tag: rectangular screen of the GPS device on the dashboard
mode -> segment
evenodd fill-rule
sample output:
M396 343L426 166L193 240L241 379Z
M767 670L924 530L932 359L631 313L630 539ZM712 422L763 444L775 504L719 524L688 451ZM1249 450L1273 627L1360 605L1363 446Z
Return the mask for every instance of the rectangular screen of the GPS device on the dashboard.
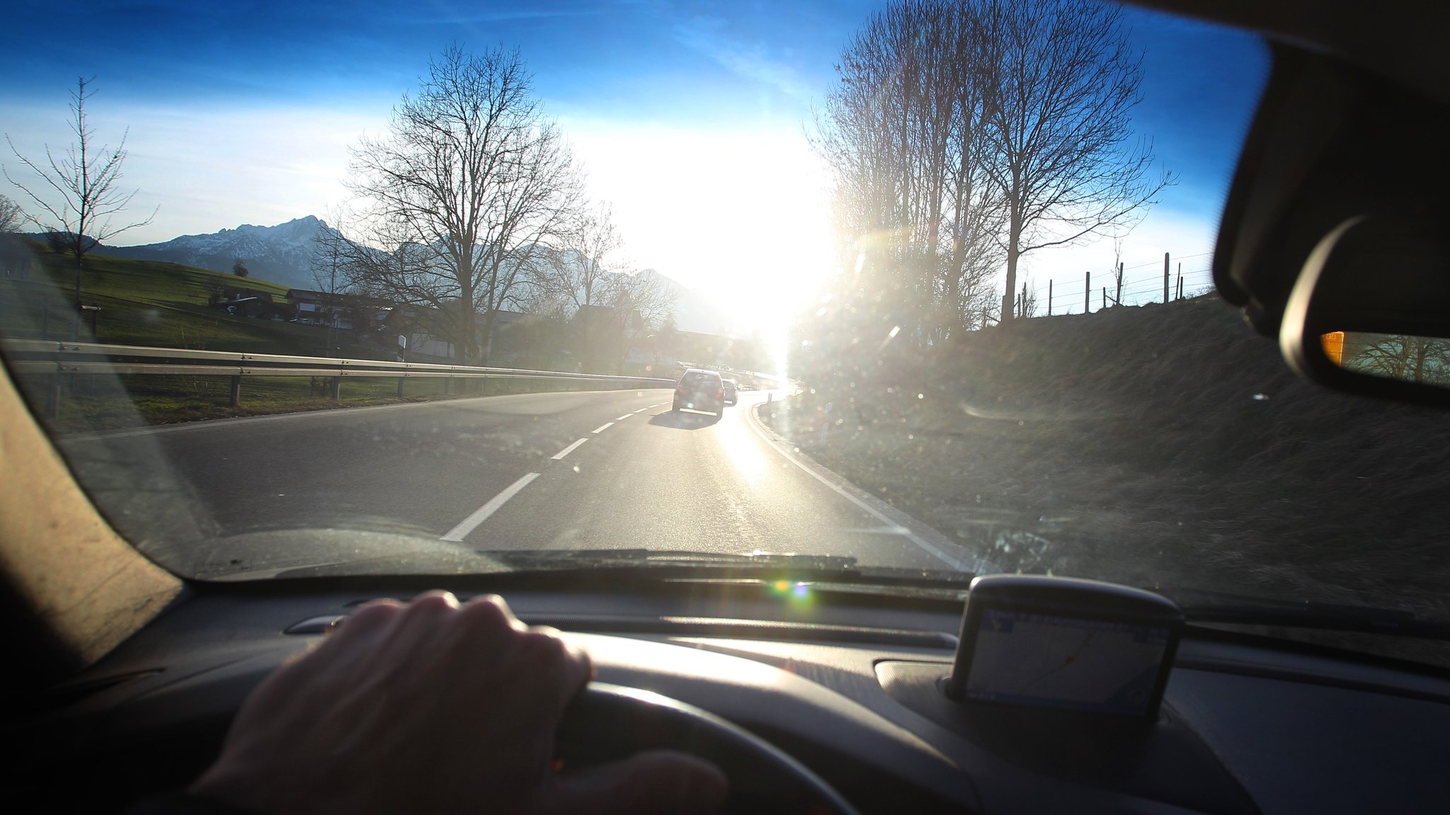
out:
M1147 713L1169 629L985 609L967 699L1102 713Z

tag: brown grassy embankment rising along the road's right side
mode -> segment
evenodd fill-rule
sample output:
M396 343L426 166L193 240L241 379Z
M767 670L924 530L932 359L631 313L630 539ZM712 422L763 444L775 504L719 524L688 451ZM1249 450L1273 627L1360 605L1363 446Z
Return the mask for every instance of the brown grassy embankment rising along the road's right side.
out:
M777 431L1008 570L1450 619L1447 415L1299 380L1217 299L1021 320L792 402Z

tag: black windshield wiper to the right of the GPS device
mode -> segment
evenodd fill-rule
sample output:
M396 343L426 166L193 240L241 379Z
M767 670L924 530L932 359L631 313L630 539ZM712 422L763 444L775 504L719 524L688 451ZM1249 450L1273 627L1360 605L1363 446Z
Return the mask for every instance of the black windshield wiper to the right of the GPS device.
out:
M1277 600L1205 589L1150 590L1156 590L1176 602L1183 609L1183 615L1189 622L1279 625L1286 628L1389 634L1422 640L1450 640L1450 622L1424 619L1405 609L1325 603L1318 600Z

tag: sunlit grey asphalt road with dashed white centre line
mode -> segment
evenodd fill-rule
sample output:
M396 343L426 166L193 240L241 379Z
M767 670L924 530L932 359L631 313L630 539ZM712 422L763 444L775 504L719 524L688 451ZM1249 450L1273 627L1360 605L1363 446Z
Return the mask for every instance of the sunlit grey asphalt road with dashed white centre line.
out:
M751 415L766 393L742 392L719 419L671 412L670 396L457 399L97 434L62 447L113 522L130 539L155 541L168 564L183 550L202 557L196 538L219 551L226 539L252 538L277 548L290 531L320 528L345 531L326 538L334 548L374 531L431 541L434 553L758 550L863 566L974 566L940 534L773 441ZM139 489L138 479L154 483ZM183 522L204 534L165 526ZM219 551L204 553L207 568ZM231 563L262 566L245 551L255 564ZM318 553L297 550L270 564L313 561Z

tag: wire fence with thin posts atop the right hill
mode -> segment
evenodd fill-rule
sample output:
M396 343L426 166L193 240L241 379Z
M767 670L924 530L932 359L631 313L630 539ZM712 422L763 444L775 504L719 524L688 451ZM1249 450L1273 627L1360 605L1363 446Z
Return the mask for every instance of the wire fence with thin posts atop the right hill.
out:
M1143 306L1193 297L1214 287L1211 257L1211 252L1199 252L1174 258L1164 252L1163 260L1135 265L1119 262L1118 270L1085 270L1080 277L1028 281L1016 293L1018 313L1082 315L1116 305Z

